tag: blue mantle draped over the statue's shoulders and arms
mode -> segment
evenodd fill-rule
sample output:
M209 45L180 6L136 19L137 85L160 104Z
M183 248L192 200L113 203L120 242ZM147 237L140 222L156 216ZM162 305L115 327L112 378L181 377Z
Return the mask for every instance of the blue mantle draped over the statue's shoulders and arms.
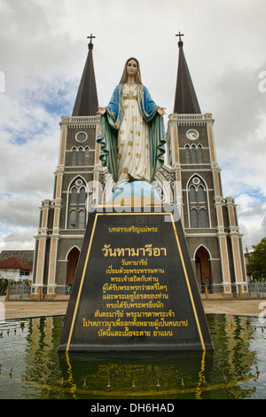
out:
M101 116L98 127L97 142L101 148L99 159L108 167L114 182L118 180L117 134L124 117L123 86L124 84L119 84L115 87L110 103L106 106L106 114ZM137 104L143 119L149 124L150 182L153 182L157 170L164 161L166 140L163 119L157 112L160 107L154 103L143 84L137 84Z

